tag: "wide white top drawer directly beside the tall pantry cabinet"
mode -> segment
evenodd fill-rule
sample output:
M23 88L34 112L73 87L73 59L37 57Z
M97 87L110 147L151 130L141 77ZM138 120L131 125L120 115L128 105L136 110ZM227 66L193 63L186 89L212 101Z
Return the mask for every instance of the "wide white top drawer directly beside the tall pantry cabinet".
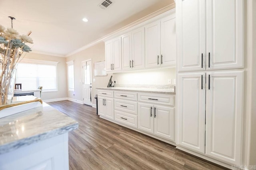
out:
M146 103L153 103L153 104L174 106L174 96L166 95L166 94L138 93L138 101L146 102Z

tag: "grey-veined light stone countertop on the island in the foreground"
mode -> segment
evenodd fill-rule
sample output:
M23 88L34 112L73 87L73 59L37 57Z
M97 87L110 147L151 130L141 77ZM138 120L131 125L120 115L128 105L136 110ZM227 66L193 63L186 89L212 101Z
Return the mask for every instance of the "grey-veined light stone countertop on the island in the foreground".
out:
M78 128L78 123L44 103L0 119L0 154Z

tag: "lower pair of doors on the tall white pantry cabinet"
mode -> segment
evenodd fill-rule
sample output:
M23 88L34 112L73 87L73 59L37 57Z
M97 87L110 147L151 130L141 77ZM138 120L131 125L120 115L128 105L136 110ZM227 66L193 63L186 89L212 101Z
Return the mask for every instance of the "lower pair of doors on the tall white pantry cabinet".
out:
M178 74L178 81L177 144L239 165L244 72Z

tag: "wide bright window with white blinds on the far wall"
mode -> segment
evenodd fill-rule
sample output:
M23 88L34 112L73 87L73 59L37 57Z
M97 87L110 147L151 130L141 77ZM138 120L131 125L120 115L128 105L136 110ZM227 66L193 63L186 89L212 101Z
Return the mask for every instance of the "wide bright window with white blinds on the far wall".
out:
M57 91L57 63L33 59L22 59L17 66L16 83L22 90L43 87L43 92Z

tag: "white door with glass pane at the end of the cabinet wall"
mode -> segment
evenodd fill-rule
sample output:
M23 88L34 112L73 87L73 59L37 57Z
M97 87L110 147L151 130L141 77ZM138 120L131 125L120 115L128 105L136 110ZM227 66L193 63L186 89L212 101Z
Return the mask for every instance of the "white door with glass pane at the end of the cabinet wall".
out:
M82 62L83 68L83 102L92 106L92 60Z

